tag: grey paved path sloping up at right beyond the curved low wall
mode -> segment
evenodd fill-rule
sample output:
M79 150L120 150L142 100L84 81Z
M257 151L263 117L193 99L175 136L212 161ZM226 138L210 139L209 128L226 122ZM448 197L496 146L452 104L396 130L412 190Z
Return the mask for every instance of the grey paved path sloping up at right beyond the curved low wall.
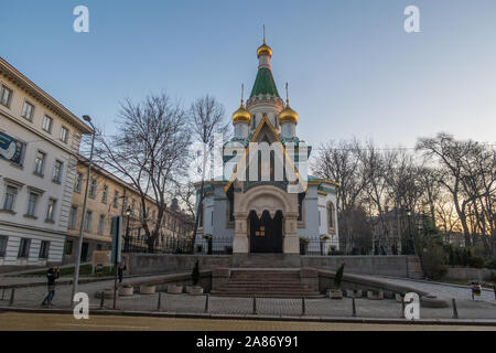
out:
M376 277L377 278L377 277ZM429 284L424 281L409 280L406 278L391 278L391 277L380 277L381 280L385 280L395 285L403 285L418 288L420 290L424 290L429 293L432 293L442 298L454 298L456 301L460 300L472 300L472 291L470 288L462 288L450 285L442 284ZM496 303L494 290L486 289L483 290L481 297L477 300L487 301L490 303Z

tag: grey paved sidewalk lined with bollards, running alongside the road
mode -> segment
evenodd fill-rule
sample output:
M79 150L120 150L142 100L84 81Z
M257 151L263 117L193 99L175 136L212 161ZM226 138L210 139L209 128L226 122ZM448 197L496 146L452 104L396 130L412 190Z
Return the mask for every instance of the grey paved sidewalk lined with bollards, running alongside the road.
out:
M392 279L387 279L392 281ZM396 280L395 281L399 281ZM431 290L432 285L408 281L410 286L422 286L428 291ZM106 280L99 282L79 285L78 291L88 293L90 298L90 307L96 309L100 304L100 299L95 298L95 293L101 291L104 288L111 286L114 281ZM425 287L425 286L429 286ZM440 287L440 286L438 286ZM444 286L441 286L444 287ZM71 286L58 286L54 298L55 308L68 308L71 302ZM454 290L457 296L463 295L456 288L438 288L440 293L450 292ZM1 292L0 292L1 295ZM4 293L3 301L0 306L9 304L10 292ZM14 295L13 307L20 308L41 308L41 302L46 296L45 287L29 287L18 288ZM485 300L471 300L465 297L456 298L457 312L460 319L493 319L496 320L496 302L488 302ZM136 310L136 311L163 311L175 313L203 313L205 311L206 296L190 296L161 293L161 308L159 310L159 293L155 295L140 295L136 293L132 297L120 297L117 300L117 309ZM112 309L112 300L105 299L104 308ZM274 317L299 317L302 314L301 299L270 299L257 298L256 310L258 314L274 315ZM208 301L209 313L222 314L251 314L254 313L252 298L227 298L227 297L209 297ZM352 317L352 299L344 298L342 300L332 300L328 298L322 299L306 299L305 300L305 315L309 317ZM385 300L369 300L366 298L356 299L356 315L359 318L401 318L402 306L391 299ZM430 309L421 308L421 319L450 319L453 315L451 302L449 308Z

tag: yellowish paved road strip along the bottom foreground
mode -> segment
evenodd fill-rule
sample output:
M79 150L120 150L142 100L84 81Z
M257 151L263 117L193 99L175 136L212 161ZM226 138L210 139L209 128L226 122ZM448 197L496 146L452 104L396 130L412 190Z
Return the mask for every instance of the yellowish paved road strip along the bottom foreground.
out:
M123 315L0 313L0 331L496 331L496 327L409 325L261 320L180 319Z

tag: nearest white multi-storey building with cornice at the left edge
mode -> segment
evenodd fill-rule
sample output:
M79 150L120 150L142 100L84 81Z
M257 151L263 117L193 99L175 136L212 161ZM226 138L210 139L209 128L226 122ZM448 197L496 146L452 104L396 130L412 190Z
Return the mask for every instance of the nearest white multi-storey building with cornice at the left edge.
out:
M79 143L91 132L0 57L0 266L62 261Z

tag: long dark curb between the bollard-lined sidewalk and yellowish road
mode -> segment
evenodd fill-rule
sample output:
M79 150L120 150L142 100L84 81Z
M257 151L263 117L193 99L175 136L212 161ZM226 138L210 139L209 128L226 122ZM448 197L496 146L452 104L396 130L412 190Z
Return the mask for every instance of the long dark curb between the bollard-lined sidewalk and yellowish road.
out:
M1 312L47 313L47 314L72 314L72 309L34 309L0 307ZM216 314L216 313L177 313L159 311L130 311L130 310L93 310L93 315L123 315L123 317L149 317L149 318L182 318L182 319L212 319L212 320L260 320L260 321L285 321L285 322L336 322L336 323L381 323L381 324L410 324L410 325L473 325L496 327L496 320L476 319L420 319L409 321L406 319L388 318L343 318L343 317L276 317L255 314Z

